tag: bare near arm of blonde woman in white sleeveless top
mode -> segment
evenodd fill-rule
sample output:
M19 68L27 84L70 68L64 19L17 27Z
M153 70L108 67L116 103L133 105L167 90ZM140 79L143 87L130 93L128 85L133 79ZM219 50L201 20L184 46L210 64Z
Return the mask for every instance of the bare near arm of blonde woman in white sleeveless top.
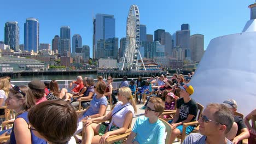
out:
M105 140L107 139L108 136L110 135L117 135L117 134L122 134L125 133L125 131L128 129L130 122L132 121L132 112L129 111L126 113L125 117L124 117L124 123L123 123L123 127L117 129L117 130L113 130L113 131L108 131L107 133L105 133L101 139L100 139L100 143L104 143Z

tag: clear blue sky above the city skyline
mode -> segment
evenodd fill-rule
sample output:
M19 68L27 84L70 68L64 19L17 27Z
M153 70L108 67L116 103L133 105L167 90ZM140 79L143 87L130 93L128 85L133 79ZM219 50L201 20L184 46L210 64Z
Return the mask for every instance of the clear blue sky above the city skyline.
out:
M89 45L92 56L92 17L97 13L115 17L115 35L119 40L126 34L126 17L131 4L137 4L141 24L147 34L165 29L173 34L189 23L191 35L205 35L205 49L210 40L221 35L240 33L250 19L249 4L253 0L13 0L4 1L0 8L0 41L4 40L4 24L17 21L20 44L24 43L24 22L28 17L39 19L39 43L49 43L60 35L61 26L71 27L71 38L80 34L83 45Z

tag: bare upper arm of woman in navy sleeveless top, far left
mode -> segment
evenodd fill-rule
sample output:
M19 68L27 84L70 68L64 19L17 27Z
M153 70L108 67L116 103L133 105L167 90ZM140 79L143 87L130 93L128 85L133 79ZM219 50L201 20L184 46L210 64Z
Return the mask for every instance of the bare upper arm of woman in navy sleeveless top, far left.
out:
M14 134L17 144L22 143L32 143L31 142L31 133L27 128L28 124L23 118L16 118L14 121Z

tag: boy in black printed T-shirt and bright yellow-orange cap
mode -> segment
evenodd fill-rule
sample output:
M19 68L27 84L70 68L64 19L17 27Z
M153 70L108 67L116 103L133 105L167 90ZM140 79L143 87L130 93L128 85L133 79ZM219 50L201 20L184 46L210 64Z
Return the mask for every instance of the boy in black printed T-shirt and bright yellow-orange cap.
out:
M176 139L177 136L181 135L183 129L183 123L195 121L197 115L197 104L196 101L190 98L190 95L194 93L192 86L183 85L179 86L181 91L181 98L177 100L176 115L173 120L169 121L172 126L172 133L170 137L171 143ZM194 127L187 127L186 133L190 133Z

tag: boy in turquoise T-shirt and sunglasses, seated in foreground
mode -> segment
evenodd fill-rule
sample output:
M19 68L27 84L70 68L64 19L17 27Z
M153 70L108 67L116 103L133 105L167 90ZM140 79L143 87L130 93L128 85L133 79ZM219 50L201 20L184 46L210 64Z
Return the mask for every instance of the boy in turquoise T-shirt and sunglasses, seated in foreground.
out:
M137 118L126 143L165 143L165 125L158 119L164 110L162 99L150 98L145 115Z

